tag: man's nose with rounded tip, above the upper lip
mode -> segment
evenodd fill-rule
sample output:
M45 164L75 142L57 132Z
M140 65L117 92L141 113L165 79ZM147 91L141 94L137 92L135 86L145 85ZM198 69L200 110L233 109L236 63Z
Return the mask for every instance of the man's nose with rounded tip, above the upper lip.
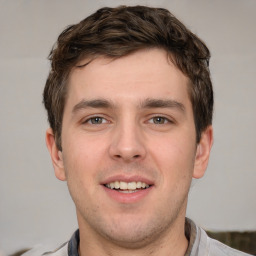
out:
M123 123L118 125L113 133L109 147L112 159L123 162L144 159L146 156L145 140L139 125Z

